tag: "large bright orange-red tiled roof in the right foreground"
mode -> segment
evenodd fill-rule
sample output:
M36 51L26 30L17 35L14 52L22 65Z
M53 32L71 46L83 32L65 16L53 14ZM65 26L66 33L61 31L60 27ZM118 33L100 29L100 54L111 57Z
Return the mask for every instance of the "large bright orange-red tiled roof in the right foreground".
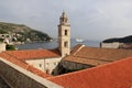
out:
M131 88L132 57L47 79L65 88Z

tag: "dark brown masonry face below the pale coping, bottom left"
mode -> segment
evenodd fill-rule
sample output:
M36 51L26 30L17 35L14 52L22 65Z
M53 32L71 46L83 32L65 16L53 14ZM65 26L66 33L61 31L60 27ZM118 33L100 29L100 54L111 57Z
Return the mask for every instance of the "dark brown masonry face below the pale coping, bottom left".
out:
M0 74L13 88L47 88L0 62Z

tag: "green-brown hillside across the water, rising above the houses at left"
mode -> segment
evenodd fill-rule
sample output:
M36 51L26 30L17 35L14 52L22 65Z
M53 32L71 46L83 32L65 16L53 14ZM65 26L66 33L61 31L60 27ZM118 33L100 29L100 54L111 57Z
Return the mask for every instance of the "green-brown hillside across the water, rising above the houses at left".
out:
M0 34L9 34L16 37L18 41L50 41L51 37L41 31L36 31L23 24L0 22Z

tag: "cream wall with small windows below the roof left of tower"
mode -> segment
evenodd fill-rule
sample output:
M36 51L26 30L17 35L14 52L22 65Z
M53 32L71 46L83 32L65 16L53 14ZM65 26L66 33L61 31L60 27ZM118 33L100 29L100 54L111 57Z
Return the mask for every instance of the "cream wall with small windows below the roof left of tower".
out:
M52 74L53 69L58 65L62 57L54 57L54 58L29 59L25 62L47 74Z

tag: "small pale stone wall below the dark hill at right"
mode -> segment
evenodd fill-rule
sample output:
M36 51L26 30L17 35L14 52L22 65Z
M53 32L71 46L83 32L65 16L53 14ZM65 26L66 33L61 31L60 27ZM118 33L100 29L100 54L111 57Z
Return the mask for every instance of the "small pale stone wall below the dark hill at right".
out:
M101 43L102 48L119 48L121 43L114 42L114 43Z

